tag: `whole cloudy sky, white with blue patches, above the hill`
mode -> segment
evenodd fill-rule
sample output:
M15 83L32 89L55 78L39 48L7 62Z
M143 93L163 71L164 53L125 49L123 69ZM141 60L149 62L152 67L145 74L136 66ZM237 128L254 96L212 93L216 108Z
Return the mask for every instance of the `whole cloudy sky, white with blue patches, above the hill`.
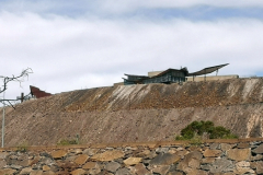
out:
M30 85L56 94L181 67L230 63L218 74L262 77L262 56L259 0L0 0L0 75L33 70L5 98Z

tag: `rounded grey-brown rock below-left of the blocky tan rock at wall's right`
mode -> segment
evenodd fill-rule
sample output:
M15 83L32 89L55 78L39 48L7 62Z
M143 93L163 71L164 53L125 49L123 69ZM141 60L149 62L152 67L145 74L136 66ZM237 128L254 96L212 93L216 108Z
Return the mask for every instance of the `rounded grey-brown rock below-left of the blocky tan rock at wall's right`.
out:
M232 161L227 159L218 159L210 166L210 173L222 173L222 172L231 172L233 171L235 165Z

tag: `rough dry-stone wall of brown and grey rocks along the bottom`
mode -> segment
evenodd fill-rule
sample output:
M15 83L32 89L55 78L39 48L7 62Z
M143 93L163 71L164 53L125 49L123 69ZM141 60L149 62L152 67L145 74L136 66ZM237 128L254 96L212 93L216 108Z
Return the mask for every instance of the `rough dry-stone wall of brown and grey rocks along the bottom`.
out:
M0 175L263 174L263 139L1 149Z

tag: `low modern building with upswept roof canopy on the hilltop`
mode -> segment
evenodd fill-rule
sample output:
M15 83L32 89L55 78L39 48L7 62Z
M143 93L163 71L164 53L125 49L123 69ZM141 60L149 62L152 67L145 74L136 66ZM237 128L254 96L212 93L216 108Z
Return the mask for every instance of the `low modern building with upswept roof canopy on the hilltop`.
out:
M195 77L197 75L204 75L204 81L206 81L206 74L213 73L215 71L218 72L219 69L228 65L229 63L204 68L193 73L190 73L187 68L182 68L179 70L170 68L164 71L148 72L148 75L135 75L125 73L127 78L126 79L123 78L124 85L150 84L150 83L165 83L165 84L180 83L187 81L187 79L191 79L191 81L195 81Z

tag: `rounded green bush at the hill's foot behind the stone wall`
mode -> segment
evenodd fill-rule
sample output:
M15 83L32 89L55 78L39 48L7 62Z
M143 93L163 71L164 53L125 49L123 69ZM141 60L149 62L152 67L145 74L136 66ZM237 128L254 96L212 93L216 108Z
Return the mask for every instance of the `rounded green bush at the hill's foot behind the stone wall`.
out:
M230 132L229 129L222 126L214 126L211 121L193 121L181 130L181 136L175 140L192 140L194 138L202 138L207 135L207 139L237 139L238 136Z

